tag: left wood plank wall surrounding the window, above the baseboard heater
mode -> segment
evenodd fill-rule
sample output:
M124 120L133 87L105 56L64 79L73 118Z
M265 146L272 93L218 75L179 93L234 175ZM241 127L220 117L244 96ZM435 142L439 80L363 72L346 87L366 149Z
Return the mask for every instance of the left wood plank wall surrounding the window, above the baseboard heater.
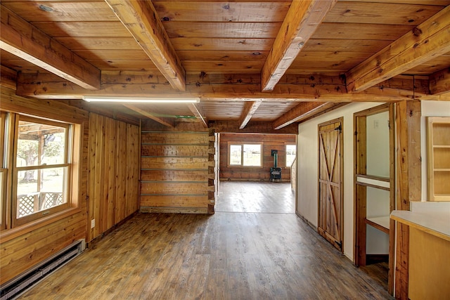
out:
M140 142L139 126L89 115L86 110L58 100L15 96L14 90L4 86L0 91L1 110L82 126L79 207L75 214L0 232L0 285L3 285L72 242L80 239L89 242L139 209ZM89 144L89 138L96 143ZM88 233L91 213L97 218L96 227Z

